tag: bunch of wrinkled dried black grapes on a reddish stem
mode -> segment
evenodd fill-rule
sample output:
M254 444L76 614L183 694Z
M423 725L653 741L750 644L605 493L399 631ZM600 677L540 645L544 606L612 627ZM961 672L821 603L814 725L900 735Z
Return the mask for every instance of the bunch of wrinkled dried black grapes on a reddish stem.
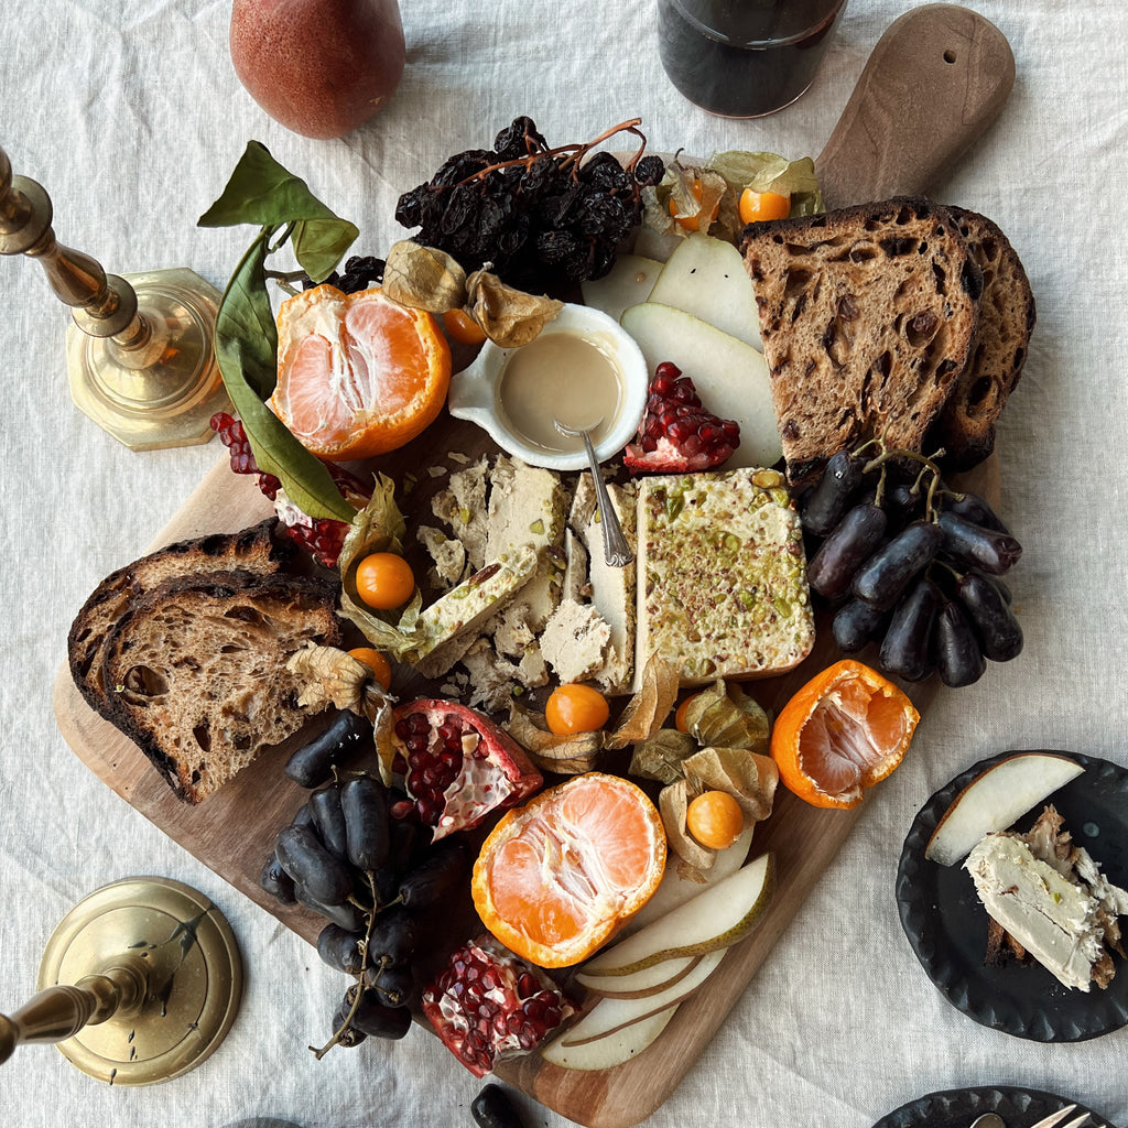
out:
M420 228L416 243L447 252L467 271L490 263L502 281L530 293L601 277L642 220L642 188L666 169L653 156L625 168L609 152L584 161L590 148L550 149L531 118L518 117L493 149L456 153L405 192L396 219Z

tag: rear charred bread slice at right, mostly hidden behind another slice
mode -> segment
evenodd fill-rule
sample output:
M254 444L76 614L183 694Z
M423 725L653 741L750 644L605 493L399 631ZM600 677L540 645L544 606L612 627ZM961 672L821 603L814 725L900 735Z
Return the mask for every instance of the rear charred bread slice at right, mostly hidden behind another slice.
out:
M1034 328L1034 296L1006 236L985 215L949 209L984 276L979 328L971 359L960 373L928 437L944 448L944 466L966 470L995 449L995 424L1022 376Z

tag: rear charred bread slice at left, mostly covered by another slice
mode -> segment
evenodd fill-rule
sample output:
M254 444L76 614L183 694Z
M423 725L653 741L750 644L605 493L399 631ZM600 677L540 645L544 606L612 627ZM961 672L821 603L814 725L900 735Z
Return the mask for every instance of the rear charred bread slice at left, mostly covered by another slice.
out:
M275 537L276 518L241 532L215 532L167 545L112 572L74 617L67 640L71 677L91 708L106 707L102 663L106 636L147 591L167 580L208 572L241 570L268 575L288 563L293 546Z

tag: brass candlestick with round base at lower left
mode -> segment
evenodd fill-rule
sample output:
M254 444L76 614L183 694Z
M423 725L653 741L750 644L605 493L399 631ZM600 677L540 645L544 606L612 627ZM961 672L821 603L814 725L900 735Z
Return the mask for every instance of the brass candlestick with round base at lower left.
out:
M223 1040L243 995L230 925L203 893L131 878L74 906L47 941L39 994L0 1015L0 1061L56 1042L83 1073L151 1085L195 1068Z

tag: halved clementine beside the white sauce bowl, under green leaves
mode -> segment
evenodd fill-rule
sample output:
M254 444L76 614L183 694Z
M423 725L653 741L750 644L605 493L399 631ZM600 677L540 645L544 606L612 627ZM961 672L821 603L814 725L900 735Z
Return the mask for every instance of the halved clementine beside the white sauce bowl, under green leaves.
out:
M435 319L373 288L319 285L279 310L277 387L271 409L320 458L384 455L442 411L450 346Z

